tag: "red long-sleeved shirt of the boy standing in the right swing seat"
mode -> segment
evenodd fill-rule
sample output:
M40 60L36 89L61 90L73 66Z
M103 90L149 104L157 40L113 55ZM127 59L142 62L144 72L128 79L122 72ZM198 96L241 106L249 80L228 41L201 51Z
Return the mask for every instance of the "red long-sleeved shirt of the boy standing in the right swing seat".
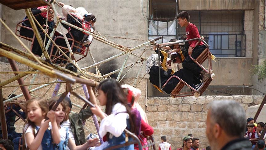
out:
M193 23L189 23L189 25L186 27L186 35L187 40L194 39L194 38L200 38L198 28ZM191 47L195 48L195 45L197 44L198 40L189 41ZM199 42L198 45L204 45L202 41Z

